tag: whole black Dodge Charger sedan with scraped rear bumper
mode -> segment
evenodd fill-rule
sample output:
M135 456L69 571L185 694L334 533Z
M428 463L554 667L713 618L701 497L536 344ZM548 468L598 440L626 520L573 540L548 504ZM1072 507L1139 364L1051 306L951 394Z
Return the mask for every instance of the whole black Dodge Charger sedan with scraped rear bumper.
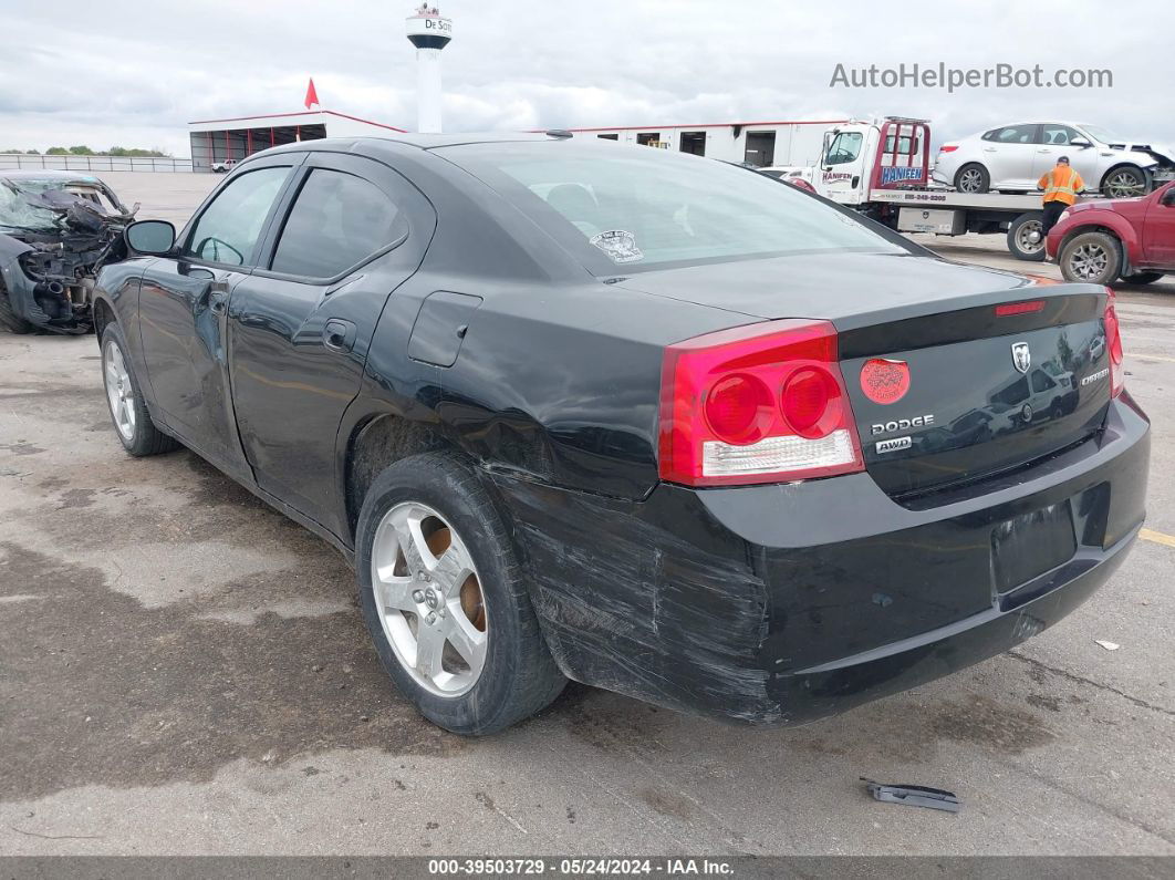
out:
M1126 558L1113 294L958 266L752 170L565 133L240 163L96 293L132 455L335 544L398 687L571 678L795 724L1040 632Z

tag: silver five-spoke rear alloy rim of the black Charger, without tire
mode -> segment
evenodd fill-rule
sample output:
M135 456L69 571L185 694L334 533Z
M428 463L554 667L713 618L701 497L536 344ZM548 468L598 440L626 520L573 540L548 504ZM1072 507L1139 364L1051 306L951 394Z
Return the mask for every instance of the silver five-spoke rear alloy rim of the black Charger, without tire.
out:
M389 510L371 546L371 587L384 636L412 678L438 697L459 697L482 674L488 646L477 567L436 510Z

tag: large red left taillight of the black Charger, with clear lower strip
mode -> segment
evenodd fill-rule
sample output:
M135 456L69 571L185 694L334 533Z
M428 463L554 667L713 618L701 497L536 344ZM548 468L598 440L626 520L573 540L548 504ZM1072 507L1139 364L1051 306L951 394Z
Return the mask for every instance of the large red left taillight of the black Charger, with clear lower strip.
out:
M667 347L659 449L662 479L686 485L862 470L835 328L770 321Z

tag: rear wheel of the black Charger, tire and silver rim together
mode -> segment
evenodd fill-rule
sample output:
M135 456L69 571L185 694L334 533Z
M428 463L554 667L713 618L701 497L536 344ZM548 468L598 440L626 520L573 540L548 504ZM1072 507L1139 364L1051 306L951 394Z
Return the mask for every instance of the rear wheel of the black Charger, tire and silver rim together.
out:
M376 477L360 513L355 567L380 660L432 724L496 733L566 685L510 532L474 469L455 456L411 456Z

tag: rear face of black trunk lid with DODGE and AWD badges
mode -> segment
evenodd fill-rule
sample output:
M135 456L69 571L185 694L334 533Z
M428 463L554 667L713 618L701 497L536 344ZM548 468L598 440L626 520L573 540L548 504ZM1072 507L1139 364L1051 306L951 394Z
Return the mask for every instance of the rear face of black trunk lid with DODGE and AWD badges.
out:
M1110 399L1106 295L1085 290L1042 287L1030 300L842 331L841 370L878 484L918 496L1097 431Z

